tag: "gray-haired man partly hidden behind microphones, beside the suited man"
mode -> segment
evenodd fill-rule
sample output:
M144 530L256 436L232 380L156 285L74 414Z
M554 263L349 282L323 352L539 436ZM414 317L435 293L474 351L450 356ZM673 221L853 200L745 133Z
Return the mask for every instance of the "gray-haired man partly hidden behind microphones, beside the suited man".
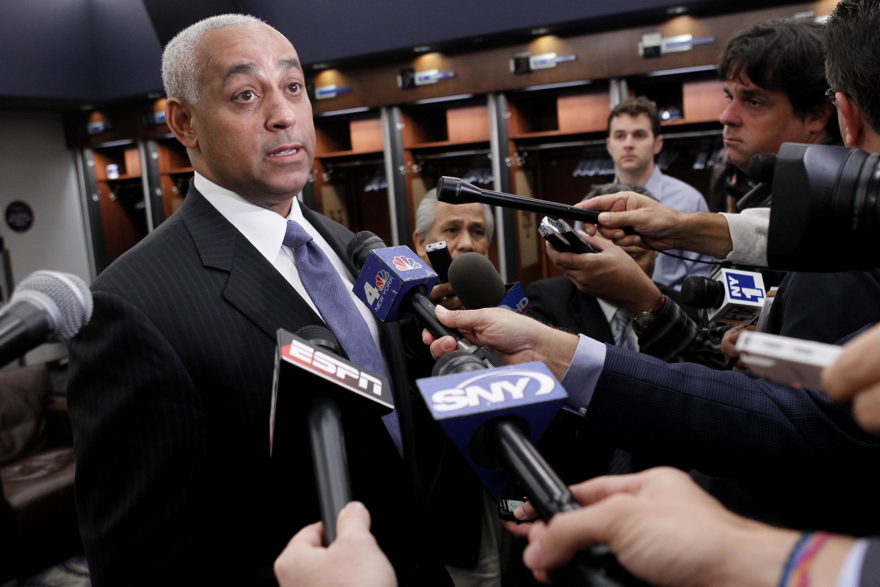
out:
M429 265L431 261L425 253L426 246L445 240L452 259L462 253L487 255L494 232L495 216L492 216L491 206L439 202L436 188L424 194L415 209L415 252ZM450 310L462 307L449 283L438 283L431 290L429 299Z

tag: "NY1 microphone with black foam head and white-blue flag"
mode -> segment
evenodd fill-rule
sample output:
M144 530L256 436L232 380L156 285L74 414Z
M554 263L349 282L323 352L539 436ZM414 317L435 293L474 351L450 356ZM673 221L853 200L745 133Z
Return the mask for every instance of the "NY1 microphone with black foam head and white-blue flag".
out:
M764 277L738 269L722 269L715 279L687 277L681 283L681 300L692 308L708 309L708 318L715 322L742 324L757 318L764 307Z

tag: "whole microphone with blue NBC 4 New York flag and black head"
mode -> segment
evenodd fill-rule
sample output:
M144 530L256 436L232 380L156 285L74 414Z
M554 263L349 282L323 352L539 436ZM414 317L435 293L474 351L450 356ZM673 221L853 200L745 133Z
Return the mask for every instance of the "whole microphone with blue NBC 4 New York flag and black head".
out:
M437 275L408 246L385 246L372 232L361 231L348 241L346 254L361 271L352 291L378 319L393 322L414 315L434 336L454 338L459 350L473 353L490 365L502 364L491 351L464 340L458 331L436 318L428 292L436 284Z

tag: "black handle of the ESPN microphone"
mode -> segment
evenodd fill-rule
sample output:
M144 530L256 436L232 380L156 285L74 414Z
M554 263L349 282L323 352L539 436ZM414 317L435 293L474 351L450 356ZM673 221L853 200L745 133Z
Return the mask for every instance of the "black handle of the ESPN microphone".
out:
M309 437L312 441L312 464L318 484L321 520L324 522L324 546L336 539L336 518L351 501L348 458L339 406L330 398L318 397L309 411Z

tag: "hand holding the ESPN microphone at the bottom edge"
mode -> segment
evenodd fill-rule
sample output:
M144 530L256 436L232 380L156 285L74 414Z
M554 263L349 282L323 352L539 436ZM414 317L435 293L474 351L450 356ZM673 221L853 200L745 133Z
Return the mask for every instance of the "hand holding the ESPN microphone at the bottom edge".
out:
M339 513L336 539L321 546L323 525L307 525L275 559L281 587L397 587L391 562L370 533L370 512L349 502Z

